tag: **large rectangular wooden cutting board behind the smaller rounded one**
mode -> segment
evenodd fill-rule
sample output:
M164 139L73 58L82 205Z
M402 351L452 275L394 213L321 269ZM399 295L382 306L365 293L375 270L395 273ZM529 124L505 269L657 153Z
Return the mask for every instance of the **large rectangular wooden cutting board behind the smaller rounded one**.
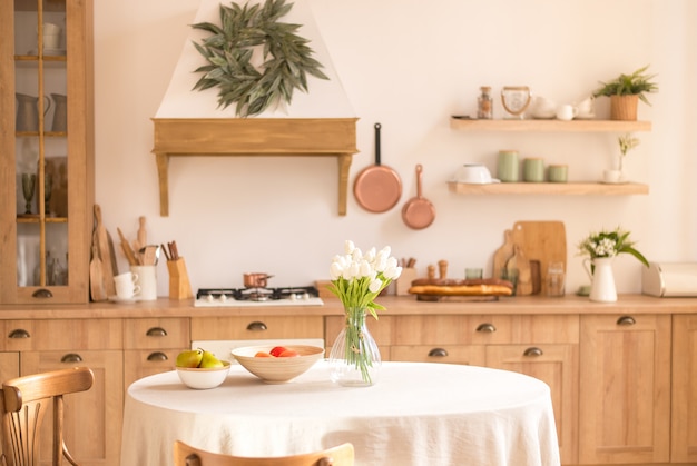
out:
M547 268L561 262L567 270L567 232L562 221L517 221L513 245L520 246L528 260L540 261L541 294L547 294Z

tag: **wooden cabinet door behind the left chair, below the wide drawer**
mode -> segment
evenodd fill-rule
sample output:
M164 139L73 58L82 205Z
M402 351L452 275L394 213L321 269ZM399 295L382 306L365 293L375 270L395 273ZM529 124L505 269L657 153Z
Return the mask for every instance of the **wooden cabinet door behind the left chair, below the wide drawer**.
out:
M66 445L80 466L118 465L124 409L122 351L75 351L77 363L62 363L65 351L28 351L21 355L22 375L87 366L95 373L92 387L65 397ZM47 416L50 414L47 413ZM50 417L43 423L40 457L50 464Z

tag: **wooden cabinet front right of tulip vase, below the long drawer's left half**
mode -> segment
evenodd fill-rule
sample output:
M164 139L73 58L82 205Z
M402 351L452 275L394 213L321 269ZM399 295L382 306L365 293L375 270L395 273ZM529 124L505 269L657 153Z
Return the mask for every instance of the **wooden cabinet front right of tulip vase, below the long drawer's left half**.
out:
M392 360L413 363L448 363L483 366L485 361L483 345L399 345L391 348Z

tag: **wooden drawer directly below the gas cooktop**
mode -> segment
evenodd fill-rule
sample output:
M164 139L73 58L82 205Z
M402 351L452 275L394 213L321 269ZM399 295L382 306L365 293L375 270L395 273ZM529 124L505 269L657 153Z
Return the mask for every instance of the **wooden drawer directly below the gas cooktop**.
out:
M194 317L192 340L323 338L322 316Z

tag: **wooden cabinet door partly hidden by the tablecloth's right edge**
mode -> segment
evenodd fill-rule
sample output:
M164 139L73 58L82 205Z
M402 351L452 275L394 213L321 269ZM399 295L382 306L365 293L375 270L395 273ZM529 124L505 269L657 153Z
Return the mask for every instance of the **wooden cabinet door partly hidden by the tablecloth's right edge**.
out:
M561 460L577 463L578 345L490 345L487 367L526 374L549 385Z

